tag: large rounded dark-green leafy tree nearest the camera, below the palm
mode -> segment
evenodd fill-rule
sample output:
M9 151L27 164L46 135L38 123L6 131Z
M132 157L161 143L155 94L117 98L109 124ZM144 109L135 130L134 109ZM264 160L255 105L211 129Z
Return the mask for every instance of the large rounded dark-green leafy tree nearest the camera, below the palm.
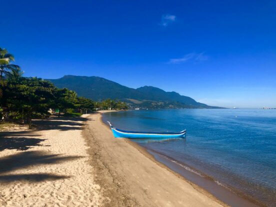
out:
M12 119L26 120L31 128L32 118L49 115L48 109L53 105L56 87L40 78L21 78L20 83L7 85L7 107Z

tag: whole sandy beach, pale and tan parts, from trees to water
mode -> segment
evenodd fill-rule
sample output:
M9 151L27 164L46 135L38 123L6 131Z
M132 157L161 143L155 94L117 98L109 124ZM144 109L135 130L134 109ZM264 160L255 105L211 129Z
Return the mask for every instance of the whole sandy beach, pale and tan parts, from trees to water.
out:
M100 113L34 124L0 131L1 206L222 204L143 148L114 138Z

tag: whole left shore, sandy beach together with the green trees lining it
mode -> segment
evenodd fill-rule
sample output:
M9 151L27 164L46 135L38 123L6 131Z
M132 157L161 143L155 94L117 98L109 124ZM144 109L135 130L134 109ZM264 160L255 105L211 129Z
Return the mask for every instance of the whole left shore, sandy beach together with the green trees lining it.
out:
M126 103L23 77L0 52L0 206L221 206L145 149L113 137L101 114ZM20 125L2 127L9 122Z

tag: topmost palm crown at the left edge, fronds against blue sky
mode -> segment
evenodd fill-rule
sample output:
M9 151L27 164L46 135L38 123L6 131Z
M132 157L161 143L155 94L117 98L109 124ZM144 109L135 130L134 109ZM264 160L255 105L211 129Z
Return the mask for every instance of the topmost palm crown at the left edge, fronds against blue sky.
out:
M16 64L9 64L11 61L14 61L14 56L8 53L5 48L0 47L0 79L8 74L10 70L20 68Z

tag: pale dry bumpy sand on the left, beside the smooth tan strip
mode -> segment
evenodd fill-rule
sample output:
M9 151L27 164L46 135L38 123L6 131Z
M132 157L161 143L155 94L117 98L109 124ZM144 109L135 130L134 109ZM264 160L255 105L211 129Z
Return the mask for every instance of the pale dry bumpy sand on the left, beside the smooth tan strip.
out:
M93 182L79 123L72 121L69 125L22 134L7 133L9 137L45 140L39 143L41 146L27 150L0 151L0 206L100 204L100 187Z

